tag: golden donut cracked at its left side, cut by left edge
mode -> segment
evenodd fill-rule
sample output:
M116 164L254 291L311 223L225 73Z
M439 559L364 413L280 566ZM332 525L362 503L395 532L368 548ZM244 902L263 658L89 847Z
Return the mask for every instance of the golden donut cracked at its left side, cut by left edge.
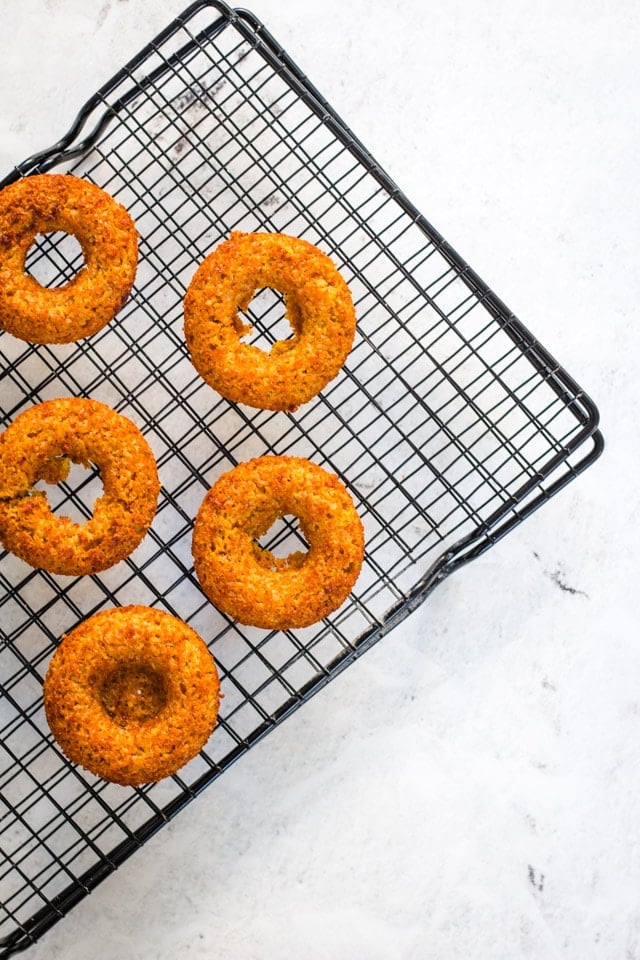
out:
M53 514L38 480L64 480L94 463L103 494L84 524ZM97 400L46 400L0 434L0 542L33 567L80 576L118 563L153 520L160 485L138 427Z

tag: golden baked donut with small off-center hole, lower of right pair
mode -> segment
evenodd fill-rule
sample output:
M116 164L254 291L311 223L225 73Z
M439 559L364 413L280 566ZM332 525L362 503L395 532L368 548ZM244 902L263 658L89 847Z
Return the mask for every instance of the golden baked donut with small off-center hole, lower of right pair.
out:
M277 557L257 542L278 517L298 518L309 549ZM222 474L196 515L192 552L200 585L240 623L305 627L336 610L364 551L362 522L342 482L301 457L257 457Z

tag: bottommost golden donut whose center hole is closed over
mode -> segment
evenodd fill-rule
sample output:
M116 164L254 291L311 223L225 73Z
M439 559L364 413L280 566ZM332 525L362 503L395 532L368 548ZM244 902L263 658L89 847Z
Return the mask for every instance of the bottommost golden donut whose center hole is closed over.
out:
M171 776L216 725L218 672L202 638L162 610L103 610L63 636L44 679L47 723L66 757L139 786Z

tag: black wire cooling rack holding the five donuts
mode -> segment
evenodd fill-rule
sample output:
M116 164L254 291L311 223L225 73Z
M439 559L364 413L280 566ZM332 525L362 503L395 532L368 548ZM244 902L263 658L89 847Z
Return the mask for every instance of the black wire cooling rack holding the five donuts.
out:
M425 599L599 455L597 413L573 379L401 194L263 26L192 5L89 100L69 134L19 176L64 169L99 184L141 235L132 297L104 330L64 346L1 338L3 426L32 403L91 396L151 444L162 492L131 558L96 577L54 577L0 555L0 957L38 938L192 797ZM305 237L352 290L347 364L294 414L228 403L192 367L182 298L233 229ZM28 260L43 283L73 276L62 234ZM283 336L261 291L255 341ZM286 324L284 324L286 326ZM338 473L367 540L350 599L314 627L244 628L194 577L192 522L224 470L252 456L309 457ZM99 477L48 488L85 518ZM272 531L288 552L295 525ZM147 603L210 644L225 694L206 749L143 789L69 764L41 686L61 634L114 605Z

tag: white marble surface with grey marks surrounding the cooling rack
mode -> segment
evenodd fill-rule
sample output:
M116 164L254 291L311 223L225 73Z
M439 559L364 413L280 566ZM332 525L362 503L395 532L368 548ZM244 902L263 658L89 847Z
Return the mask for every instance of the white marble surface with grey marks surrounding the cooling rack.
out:
M638 960L637 0L248 5L607 450L28 956ZM4 0L0 170L182 6Z

